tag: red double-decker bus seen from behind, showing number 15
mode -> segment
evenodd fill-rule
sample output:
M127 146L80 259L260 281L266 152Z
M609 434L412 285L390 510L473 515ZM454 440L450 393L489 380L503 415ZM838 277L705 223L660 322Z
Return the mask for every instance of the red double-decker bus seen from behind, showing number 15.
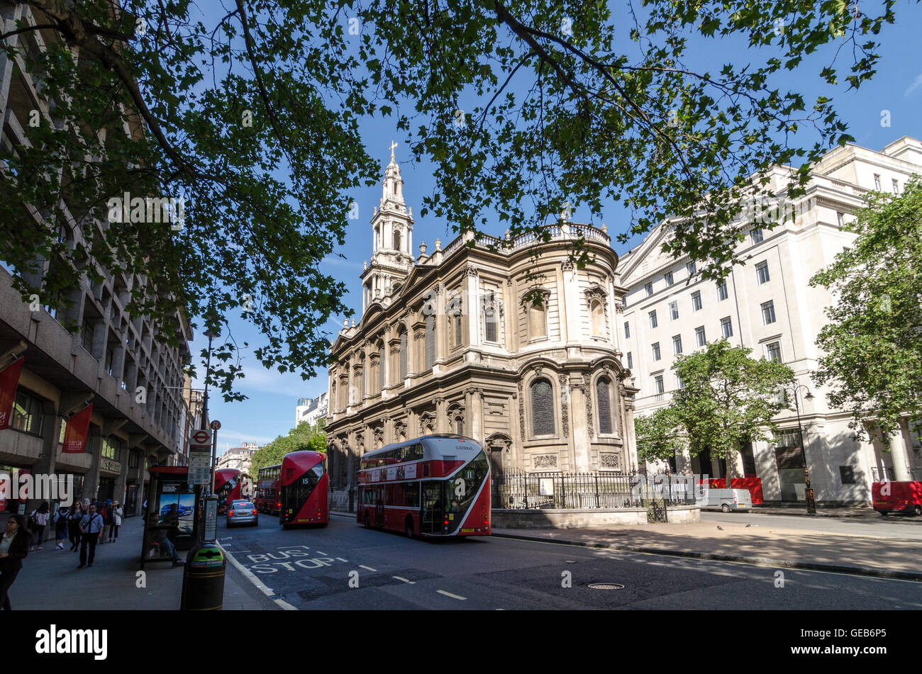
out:
M329 476L323 452L289 452L282 459L278 523L326 524L330 519Z

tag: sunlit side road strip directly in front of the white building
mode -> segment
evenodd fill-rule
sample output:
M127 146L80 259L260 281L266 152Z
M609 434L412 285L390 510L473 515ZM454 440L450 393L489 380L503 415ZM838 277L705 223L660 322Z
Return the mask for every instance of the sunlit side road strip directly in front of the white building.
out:
M852 536L880 536L888 539L922 540L922 517L890 515L881 517L878 513L848 517L804 517L797 515L776 515L760 513L722 513L702 511L703 522L718 524L751 524L766 529L805 529L827 533L851 534Z

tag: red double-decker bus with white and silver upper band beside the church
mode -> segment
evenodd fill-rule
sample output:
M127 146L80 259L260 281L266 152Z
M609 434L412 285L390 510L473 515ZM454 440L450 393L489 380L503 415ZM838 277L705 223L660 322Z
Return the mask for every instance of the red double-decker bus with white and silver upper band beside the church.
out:
M422 436L367 452L356 520L408 537L490 535L490 462L476 440Z

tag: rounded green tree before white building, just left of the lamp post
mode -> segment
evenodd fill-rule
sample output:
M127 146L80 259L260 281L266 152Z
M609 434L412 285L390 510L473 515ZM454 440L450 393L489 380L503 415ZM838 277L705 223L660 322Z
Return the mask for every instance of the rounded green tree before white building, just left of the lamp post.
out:
M670 408L688 437L691 456L708 449L713 459L728 459L733 477L741 442L767 440L777 432L775 414L787 403L779 388L794 380L783 363L751 357L751 349L726 339L676 358L684 388L672 394Z

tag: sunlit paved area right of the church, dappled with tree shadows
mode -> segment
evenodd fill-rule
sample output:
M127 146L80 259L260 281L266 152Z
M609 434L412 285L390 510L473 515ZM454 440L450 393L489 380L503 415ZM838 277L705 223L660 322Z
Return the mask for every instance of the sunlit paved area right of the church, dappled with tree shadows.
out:
M493 536L518 540L536 540L577 545L590 548L606 548L626 552L665 554L694 559L722 562L741 562L760 566L830 571L853 575L869 575L904 580L922 580L922 556L919 555L919 540L908 535L901 537L894 529L881 529L881 535L869 535L870 521L863 517L867 508L855 508L861 517L850 517L852 508L827 508L823 517L835 517L828 521L830 527L836 521L855 523L855 534L847 531L847 525L836 530L818 530L821 526L814 518L805 518L802 525L788 517L771 517L771 513L787 516L792 513L786 508L760 510L760 523L727 520L691 522L688 524L648 524L608 526L593 529L493 529ZM871 511L873 513L873 511ZM337 513L355 517L352 513ZM768 515L766 515L768 514ZM708 514L709 515L709 514ZM917 517L896 517L881 520L883 526L912 527L913 533L922 527ZM754 520L754 517L750 518ZM876 520L874 520L876 521ZM793 523L792 523L793 522ZM919 525L919 527L913 527Z

